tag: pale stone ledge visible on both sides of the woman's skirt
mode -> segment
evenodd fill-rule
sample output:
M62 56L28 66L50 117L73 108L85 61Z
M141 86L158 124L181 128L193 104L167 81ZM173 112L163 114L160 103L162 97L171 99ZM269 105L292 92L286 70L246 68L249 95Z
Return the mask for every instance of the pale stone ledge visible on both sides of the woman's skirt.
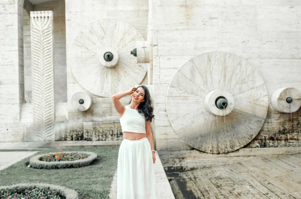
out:
M155 176L157 183L157 198L175 199L171 185L165 174L158 152L156 151ZM117 195L117 171L115 172L113 182L111 184L110 199L116 199Z

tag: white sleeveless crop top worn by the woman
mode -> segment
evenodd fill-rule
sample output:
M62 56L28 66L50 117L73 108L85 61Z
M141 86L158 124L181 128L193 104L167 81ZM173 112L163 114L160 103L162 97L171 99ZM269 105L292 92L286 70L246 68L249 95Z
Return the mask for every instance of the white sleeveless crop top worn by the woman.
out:
M146 133L145 117L128 105L125 106L125 111L119 120L122 132Z

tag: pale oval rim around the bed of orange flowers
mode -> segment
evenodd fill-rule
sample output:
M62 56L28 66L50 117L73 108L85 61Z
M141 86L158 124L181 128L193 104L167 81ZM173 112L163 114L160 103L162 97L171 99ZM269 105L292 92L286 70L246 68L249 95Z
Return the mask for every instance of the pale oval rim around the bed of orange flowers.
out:
M94 159L97 158L97 154L93 152L86 151L67 151L64 153L80 153L83 155L88 155L87 158L74 160L74 161L55 161L55 162L46 162L39 160L44 154L36 155L30 158L29 164L33 168L45 168L45 169L61 169L61 168L70 168L70 167L83 167L88 166Z

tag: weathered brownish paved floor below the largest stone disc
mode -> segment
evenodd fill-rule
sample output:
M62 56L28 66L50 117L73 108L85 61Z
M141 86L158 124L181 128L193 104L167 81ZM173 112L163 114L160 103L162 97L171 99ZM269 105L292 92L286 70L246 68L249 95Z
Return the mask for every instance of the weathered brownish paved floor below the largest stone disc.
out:
M300 199L300 171L301 154L290 154L168 175L175 174L185 198Z

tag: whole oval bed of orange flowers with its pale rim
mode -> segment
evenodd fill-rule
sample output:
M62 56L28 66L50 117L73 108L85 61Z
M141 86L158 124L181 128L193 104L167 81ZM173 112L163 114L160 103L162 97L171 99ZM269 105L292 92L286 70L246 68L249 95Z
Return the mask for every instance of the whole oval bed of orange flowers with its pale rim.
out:
M92 152L50 152L32 157L29 163L33 168L77 168L89 165L96 157L97 154Z

